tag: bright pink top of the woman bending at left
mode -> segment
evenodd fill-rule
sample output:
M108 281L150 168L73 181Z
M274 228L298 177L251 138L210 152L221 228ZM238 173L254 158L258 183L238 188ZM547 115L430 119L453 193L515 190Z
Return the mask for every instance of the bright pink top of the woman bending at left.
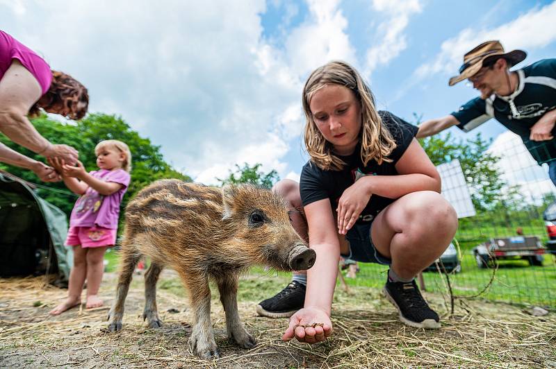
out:
M19 60L35 76L42 89L42 94L46 94L52 82L52 72L47 62L8 33L0 31L0 80L12 64L13 59Z

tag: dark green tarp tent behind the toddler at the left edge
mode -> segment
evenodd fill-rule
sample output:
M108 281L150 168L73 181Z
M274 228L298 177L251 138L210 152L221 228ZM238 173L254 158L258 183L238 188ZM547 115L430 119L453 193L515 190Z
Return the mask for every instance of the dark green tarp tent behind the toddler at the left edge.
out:
M67 286L73 262L64 246L67 216L30 184L0 171L0 277L47 275Z

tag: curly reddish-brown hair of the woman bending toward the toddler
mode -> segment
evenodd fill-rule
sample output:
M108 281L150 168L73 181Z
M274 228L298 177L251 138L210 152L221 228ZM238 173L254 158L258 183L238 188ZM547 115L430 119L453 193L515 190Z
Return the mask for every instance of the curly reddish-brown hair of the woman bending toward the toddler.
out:
M49 108L54 106L64 106L70 109L67 118L77 120L85 117L89 108L89 94L85 86L69 74L61 71L52 71L52 76L52 83L44 96L45 98L39 100L40 104L35 103L31 107L29 115L36 117L40 114L40 108L48 111ZM44 101L47 102L44 103Z

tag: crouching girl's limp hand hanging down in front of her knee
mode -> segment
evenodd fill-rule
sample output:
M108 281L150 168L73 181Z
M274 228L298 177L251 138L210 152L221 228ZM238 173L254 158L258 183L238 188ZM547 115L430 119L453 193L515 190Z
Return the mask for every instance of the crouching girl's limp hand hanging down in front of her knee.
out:
M369 188L369 181L373 180L372 175L359 178L350 187L347 187L338 200L338 233L346 234L350 230L359 214L365 209L372 195Z

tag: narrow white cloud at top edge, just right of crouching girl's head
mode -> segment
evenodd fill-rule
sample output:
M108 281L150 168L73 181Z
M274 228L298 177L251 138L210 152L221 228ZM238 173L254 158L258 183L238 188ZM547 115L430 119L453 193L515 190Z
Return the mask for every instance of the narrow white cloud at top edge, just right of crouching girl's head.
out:
M421 11L419 0L373 0L373 9L383 13L379 24L379 41L366 53L364 73L369 76L379 65L385 65L407 48L405 28L409 17Z

